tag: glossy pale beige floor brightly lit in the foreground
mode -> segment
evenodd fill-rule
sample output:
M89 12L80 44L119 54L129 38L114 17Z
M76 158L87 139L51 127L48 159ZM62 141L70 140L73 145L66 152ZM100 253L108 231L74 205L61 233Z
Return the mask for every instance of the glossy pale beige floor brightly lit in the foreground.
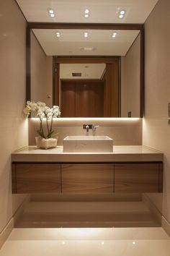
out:
M0 256L169 256L162 228L14 229Z

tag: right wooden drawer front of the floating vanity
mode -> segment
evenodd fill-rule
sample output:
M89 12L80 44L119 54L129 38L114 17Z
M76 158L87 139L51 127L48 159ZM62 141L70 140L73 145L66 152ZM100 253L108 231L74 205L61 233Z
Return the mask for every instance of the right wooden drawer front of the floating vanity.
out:
M115 164L115 192L161 192L159 163Z

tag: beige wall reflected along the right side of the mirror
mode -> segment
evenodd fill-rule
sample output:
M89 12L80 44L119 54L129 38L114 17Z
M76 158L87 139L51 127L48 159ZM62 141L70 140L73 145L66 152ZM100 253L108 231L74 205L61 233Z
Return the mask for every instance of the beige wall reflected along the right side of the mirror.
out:
M121 58L121 116L140 116L140 35Z

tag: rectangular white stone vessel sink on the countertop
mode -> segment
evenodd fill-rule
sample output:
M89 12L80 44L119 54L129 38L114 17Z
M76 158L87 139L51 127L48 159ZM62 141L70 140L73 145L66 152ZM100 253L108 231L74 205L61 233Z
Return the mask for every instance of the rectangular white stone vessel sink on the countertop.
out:
M64 153L109 153L113 140L107 136L67 136L63 139Z

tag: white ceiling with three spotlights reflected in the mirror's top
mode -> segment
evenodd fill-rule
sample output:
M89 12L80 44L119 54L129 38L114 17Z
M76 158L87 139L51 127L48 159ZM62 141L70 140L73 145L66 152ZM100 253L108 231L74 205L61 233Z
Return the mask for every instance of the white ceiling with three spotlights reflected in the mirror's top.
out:
M57 31L60 38L55 35ZM88 32L88 38L84 38L84 31ZM112 30L33 30L48 56L125 56L140 31L115 31L117 35L112 38Z

